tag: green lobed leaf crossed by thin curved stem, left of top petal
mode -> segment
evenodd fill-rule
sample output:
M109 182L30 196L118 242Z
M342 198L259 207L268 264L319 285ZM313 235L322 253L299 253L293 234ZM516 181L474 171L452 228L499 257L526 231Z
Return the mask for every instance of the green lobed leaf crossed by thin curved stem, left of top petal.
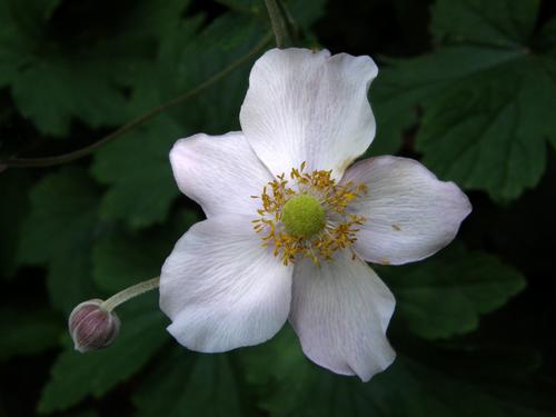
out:
M136 79L138 113L206 81L260 41L260 24L226 13L199 30L199 19L186 20L161 46L157 64ZM222 135L239 129L239 108L247 89L249 64L95 156L92 175L110 189L101 217L139 229L166 220L180 196L168 159L180 138L205 131Z

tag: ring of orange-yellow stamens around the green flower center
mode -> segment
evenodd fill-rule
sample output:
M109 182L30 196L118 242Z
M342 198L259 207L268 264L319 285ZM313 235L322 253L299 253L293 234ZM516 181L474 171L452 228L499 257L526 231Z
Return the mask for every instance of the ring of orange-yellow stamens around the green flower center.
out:
M284 265L296 260L299 255L311 259L315 264L332 259L332 254L345 249L357 240L358 226L365 222L361 216L346 214L349 203L367 192L364 183L337 183L332 171L315 170L304 172L305 162L299 169L291 169L289 179L286 175L264 187L260 198L261 208L257 210L260 218L252 220L257 234L262 235L262 246L272 247L274 255L279 256ZM291 236L281 221L284 206L295 196L308 195L316 198L326 212L322 229L312 236Z

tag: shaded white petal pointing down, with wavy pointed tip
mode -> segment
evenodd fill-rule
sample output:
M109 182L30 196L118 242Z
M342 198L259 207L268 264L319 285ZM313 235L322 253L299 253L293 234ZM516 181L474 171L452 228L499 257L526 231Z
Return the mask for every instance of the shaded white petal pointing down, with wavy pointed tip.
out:
M395 304L375 271L342 250L320 267L296 265L289 320L309 359L367 381L396 356L386 339Z

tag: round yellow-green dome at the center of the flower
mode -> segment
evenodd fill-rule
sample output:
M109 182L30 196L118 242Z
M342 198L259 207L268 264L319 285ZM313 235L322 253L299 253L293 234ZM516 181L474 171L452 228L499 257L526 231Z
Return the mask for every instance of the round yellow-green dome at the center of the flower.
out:
M325 227L325 209L312 196L295 196L284 205L281 221L289 235L308 238Z

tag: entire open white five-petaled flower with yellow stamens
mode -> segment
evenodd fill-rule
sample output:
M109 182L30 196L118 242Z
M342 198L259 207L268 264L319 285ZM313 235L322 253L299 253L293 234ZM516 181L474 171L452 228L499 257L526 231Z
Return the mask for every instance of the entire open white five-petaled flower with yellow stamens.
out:
M449 244L470 212L421 163L377 157L369 57L274 49L254 66L242 131L179 140L180 190L207 219L176 244L160 277L168 331L220 353L268 340L286 320L307 357L369 380L395 358L390 290L366 261L401 265Z

